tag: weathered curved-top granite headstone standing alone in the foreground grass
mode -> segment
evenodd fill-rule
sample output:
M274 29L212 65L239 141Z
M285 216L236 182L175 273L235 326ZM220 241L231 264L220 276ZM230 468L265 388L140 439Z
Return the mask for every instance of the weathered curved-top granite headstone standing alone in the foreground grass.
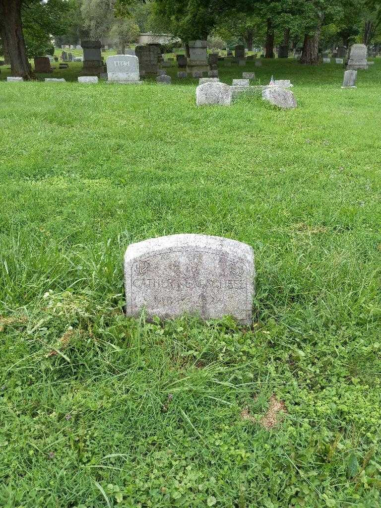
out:
M131 244L124 256L128 316L252 320L255 266L252 248L206 235L171 235Z

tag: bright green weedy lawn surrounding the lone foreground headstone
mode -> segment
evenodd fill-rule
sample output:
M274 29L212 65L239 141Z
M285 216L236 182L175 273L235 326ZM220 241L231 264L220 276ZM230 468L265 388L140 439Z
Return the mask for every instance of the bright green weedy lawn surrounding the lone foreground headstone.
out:
M0 506L379 506L381 73L271 74L298 109L0 83ZM174 233L253 246L252 327L123 315Z

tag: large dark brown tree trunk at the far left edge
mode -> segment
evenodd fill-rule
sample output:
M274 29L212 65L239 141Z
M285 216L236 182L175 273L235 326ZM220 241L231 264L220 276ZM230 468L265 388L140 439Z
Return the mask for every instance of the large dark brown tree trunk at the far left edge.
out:
M0 23L3 43L11 61L12 74L30 79L31 70L22 33L21 0L0 0Z

